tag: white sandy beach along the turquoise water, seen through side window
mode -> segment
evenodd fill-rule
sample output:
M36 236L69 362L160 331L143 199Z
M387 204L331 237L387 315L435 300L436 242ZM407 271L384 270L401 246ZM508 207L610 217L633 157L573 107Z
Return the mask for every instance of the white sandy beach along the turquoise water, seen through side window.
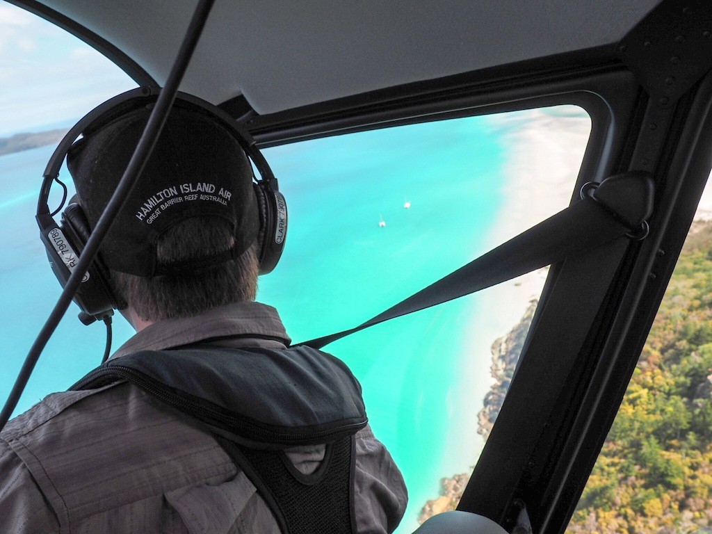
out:
M590 133L590 119L581 114L562 116L531 110L494 116L491 121L493 128L505 130L506 183L503 206L486 240L488 248L569 204ZM477 411L493 384L489 372L492 343L520 321L532 298L539 297L547 273L548 268L540 269L483 290L476 297L478 323L471 330L468 354L472 365L468 372L473 384L470 399L476 402ZM468 425L467 433L462 437L472 445L463 450L474 448L478 455L483 439L476 434L476 425ZM461 469L475 461L476 456L463 459Z

